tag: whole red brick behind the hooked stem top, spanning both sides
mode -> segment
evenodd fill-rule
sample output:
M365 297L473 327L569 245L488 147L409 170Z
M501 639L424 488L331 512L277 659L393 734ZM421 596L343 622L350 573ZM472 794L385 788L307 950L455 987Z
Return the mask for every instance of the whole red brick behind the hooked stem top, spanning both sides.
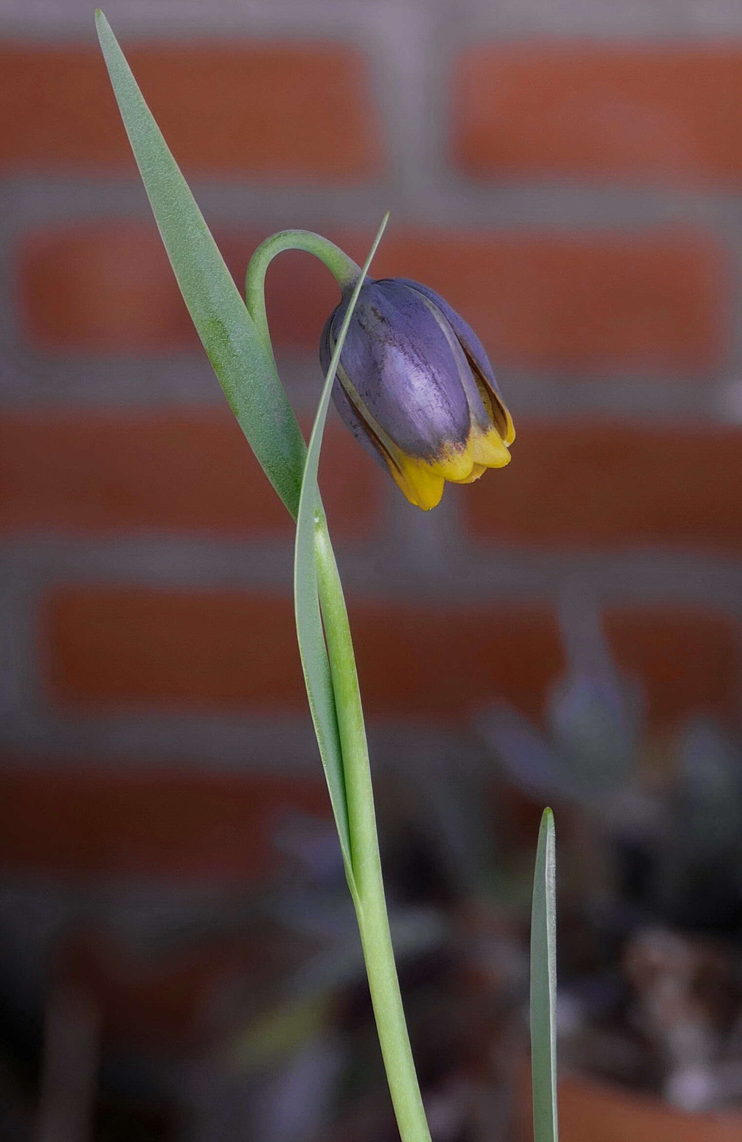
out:
M218 234L241 283L259 234ZM331 234L362 259L370 238ZM392 232L374 262L438 289L497 363L564 371L696 372L723 360L728 272L717 244L680 227L637 233ZM41 232L19 255L21 322L42 348L139 353L196 345L153 225ZM284 254L267 279L276 345L316 352L337 304L330 275Z

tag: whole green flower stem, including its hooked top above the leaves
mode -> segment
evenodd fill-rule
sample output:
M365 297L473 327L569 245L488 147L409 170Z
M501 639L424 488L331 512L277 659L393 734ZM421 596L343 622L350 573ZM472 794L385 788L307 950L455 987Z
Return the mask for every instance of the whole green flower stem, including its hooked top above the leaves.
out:
M245 303L271 354L273 348L265 308L265 273L276 254L291 249L306 250L320 258L334 275L341 290L352 287L361 273L355 262L339 247L309 231L283 231L266 239L250 259ZM315 521L317 590L332 676L348 807L353 867L350 893L400 1135L402 1142L430 1142L394 962L373 809L371 765L350 626L326 518L318 498Z

